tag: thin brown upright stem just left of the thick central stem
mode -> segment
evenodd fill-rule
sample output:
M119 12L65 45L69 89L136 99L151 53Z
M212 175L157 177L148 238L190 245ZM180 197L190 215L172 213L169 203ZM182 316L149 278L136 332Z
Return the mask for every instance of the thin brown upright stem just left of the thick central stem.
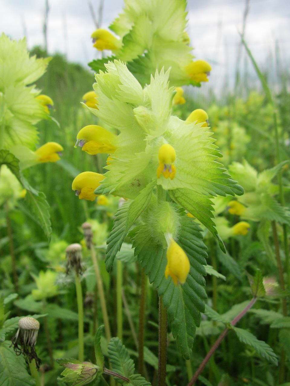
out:
M145 309L146 309L146 289L147 281L145 268L141 270L141 293L139 308L139 330L138 330L138 371L144 374L144 335L145 335Z

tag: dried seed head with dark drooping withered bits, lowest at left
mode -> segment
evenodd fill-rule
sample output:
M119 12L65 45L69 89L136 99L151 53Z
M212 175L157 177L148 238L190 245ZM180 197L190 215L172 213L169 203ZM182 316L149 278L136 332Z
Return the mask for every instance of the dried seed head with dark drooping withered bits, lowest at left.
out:
M34 318L24 317L19 319L18 325L19 328L16 335L12 338L11 346L14 345L16 355L25 354L29 362L35 359L36 366L39 368L41 360L38 358L34 348L39 330L39 322ZM22 347L19 347L18 341Z

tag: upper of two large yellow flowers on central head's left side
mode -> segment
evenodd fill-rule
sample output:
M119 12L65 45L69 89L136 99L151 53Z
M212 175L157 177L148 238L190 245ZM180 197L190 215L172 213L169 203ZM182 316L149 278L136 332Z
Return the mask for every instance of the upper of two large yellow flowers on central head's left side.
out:
M116 138L116 135L101 126L88 125L78 132L75 147L82 147L88 154L114 153L117 149Z

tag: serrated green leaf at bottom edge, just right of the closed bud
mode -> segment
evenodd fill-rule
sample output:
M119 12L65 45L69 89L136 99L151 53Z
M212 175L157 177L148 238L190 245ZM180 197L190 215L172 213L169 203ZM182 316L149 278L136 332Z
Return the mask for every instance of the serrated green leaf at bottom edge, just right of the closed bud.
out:
M132 359L128 354L126 347L122 344L119 338L112 338L108 345L108 354L109 359L112 365L113 371L118 372L118 374L123 375L124 377L130 379L130 382L127 383L123 379L115 379L121 383L128 386L150 386L150 382L146 381L139 374L134 374L135 365Z

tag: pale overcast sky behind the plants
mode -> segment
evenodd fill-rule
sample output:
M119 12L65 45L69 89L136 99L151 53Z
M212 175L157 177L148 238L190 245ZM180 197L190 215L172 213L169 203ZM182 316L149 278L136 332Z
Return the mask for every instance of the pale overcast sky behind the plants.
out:
M96 29L87 1L48 0L48 51L86 65L96 58L90 35ZM92 0L98 14L100 0ZM287 0L250 0L246 41L258 63L269 65L278 42L283 66L290 64L290 5ZM123 0L104 0L102 28L121 12ZM28 47L43 45L45 0L0 0L0 30L13 39L26 35ZM244 0L188 0L188 33L193 54L212 64L217 83L234 78L238 31L242 30ZM271 63L270 63L271 64ZM241 67L244 66L244 56Z

